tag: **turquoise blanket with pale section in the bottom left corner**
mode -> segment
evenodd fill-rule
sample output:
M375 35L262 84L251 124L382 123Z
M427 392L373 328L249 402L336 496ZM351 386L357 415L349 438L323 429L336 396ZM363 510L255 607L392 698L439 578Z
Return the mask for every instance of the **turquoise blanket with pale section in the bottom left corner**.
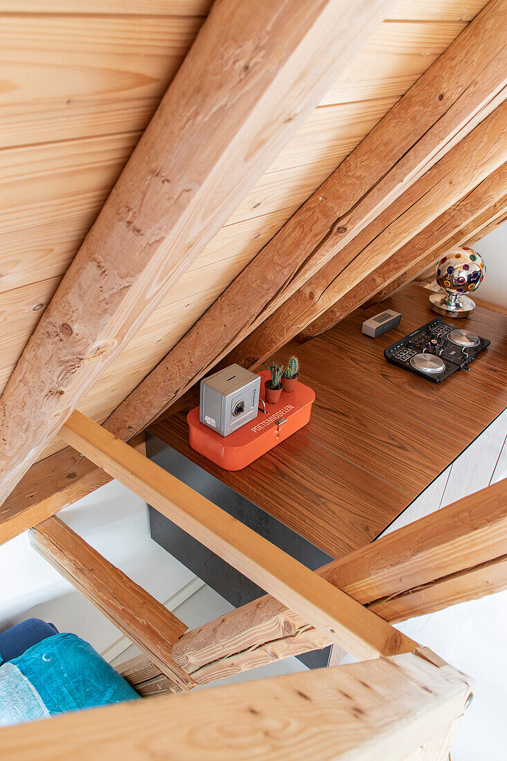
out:
M88 642L56 634L0 666L0 727L138 699Z

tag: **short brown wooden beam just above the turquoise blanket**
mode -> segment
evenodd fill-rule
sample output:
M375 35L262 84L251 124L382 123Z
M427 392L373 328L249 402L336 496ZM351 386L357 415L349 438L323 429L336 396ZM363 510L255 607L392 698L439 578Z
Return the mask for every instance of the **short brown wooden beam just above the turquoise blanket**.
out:
M196 682L171 657L187 631L162 603L106 560L57 517L30 531L30 543L87 600L107 616L180 689Z

